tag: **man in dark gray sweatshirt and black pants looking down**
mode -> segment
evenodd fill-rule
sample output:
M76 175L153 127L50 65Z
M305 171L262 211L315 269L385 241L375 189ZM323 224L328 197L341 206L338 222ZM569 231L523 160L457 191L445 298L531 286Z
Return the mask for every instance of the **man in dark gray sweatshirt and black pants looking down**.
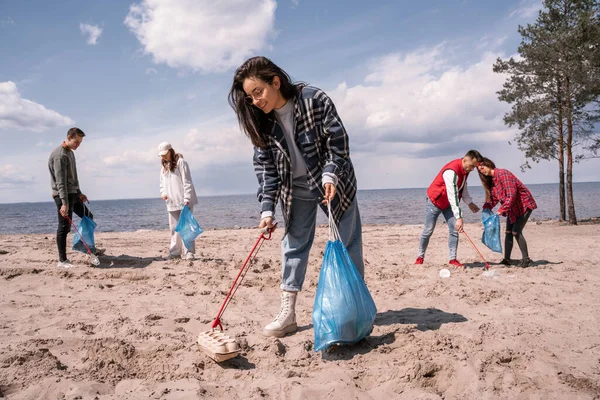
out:
M73 218L73 211L79 217L86 215L93 219L90 210L83 204L87 201L86 195L79 189L77 178L77 164L74 151L77 150L85 133L79 128L71 128L67 132L67 139L48 158L50 170L50 184L52 197L58 209L58 229L56 231L56 245L58 247L58 266L69 268L73 265L67 259L67 234L71 230L69 219Z

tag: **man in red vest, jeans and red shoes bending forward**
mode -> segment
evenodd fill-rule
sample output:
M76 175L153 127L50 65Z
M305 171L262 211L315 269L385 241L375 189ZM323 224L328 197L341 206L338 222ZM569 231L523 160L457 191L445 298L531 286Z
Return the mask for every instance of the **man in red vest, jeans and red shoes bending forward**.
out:
M469 150L463 158L450 161L437 174L429 189L427 189L427 206L425 209L425 227L419 242L419 256L415 264L423 264L429 238L433 234L435 224L440 214L444 215L448 224L448 248L450 250L450 265L462 267L456 259L458 248L458 233L463 231L462 212L459 202L462 199L469 204L472 212L479 211L467 190L467 178L483 157L476 150Z

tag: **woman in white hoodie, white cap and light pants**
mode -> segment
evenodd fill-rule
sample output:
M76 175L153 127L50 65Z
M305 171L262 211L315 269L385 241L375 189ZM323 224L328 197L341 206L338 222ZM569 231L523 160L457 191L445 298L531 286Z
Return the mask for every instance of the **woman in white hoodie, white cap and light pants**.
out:
M183 256L187 260L193 260L194 253L196 252L195 244L191 248L186 249L181 236L175 232L175 227L177 226L177 222L179 222L183 206L186 205L193 211L194 205L198 204L196 189L194 189L194 183L192 182L192 174L183 156L175 153L171 144L167 142L159 144L158 155L162 158L160 195L167 203L169 228L171 229L169 256ZM182 250L184 250L183 253Z

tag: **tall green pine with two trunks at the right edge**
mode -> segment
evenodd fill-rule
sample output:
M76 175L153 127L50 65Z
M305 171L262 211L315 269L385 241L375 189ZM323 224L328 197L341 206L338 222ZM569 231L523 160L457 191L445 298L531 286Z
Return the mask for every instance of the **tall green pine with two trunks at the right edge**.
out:
M569 223L577 224L573 163L600 148L600 3L545 0L536 23L519 33L519 57L494 64L494 72L508 75L498 92L512 104L504 121L519 128L515 139L527 159L557 160L560 218L566 192Z

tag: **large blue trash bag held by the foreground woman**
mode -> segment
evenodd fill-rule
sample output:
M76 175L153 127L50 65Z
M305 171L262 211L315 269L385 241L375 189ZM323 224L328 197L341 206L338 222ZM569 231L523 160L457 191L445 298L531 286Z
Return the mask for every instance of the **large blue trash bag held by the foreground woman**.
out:
M315 351L356 343L373 330L377 308L346 246L328 241L313 308Z

